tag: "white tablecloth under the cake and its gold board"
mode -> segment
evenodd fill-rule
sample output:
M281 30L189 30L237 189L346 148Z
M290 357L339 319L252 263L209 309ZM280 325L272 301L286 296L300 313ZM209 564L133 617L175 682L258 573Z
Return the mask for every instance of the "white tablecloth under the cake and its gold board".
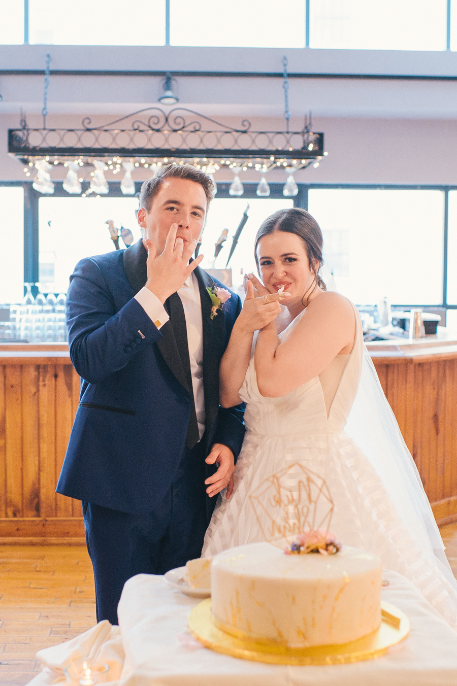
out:
M383 600L409 617L410 635L376 660L292 667L249 662L200 647L187 632L199 600L167 586L162 576L128 580L119 603L124 667L116 686L457 686L457 634L412 584L386 572ZM94 630L91 630L94 631ZM112 637L113 640L113 637ZM77 641L77 639L73 639ZM61 648L64 648L63 644ZM40 651L46 661L47 648ZM55 653L54 653L55 655ZM34 679L51 684L51 675Z

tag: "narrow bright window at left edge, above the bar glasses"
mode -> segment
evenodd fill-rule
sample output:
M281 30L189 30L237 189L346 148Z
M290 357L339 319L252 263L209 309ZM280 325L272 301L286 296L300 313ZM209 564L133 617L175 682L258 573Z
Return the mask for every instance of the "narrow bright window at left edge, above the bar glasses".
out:
M24 296L24 191L0 187L0 302Z

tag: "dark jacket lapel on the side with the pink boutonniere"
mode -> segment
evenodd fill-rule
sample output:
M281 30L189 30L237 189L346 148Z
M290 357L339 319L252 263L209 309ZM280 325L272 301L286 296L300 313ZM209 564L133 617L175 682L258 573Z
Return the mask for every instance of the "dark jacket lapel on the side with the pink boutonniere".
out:
M219 408L219 365L224 349L225 317L224 311L219 310L217 316L211 319L213 303L207 292L207 288L215 286L211 276L200 267L194 270L194 274L202 305L204 410L209 427L215 421Z

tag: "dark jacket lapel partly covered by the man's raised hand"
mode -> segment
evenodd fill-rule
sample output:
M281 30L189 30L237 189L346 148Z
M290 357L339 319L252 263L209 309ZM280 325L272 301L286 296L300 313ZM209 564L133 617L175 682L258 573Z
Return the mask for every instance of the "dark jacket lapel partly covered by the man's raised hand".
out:
M146 252L141 240L124 250L124 273L134 294L137 294L148 280L147 259L148 252ZM162 338L156 341L156 345L175 379L190 392L190 389L187 388L185 372L174 338L172 324L169 321L161 328L161 334Z

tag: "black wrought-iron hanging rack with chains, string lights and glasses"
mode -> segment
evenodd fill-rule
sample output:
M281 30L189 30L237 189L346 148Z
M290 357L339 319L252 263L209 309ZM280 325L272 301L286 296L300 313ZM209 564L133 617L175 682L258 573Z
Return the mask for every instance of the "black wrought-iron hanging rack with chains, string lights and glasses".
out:
M25 165L27 176L36 168L34 187L42 193L54 192L50 172L58 165L67 167L64 189L69 193L81 193L80 167L93 168L89 192L94 193L108 193L104 171L111 169L117 174L124 167L121 190L133 195L131 174L135 167L150 168L154 172L161 165L174 163L191 164L211 175L222 168L231 169L234 178L229 192L234 196L243 193L241 171L255 170L261 174L257 194L268 196L270 189L265 174L283 167L288 172L283 192L293 196L298 191L294 172L309 165L318 166L327 154L324 134L312 131L311 117L305 118L303 130L289 130L286 58L283 58L285 131L253 130L248 119L234 128L184 107L165 112L156 106L137 110L102 126L93 126L91 119L85 117L81 128L46 128L49 62L47 56L43 128L29 128L21 117L21 128L8 130L9 154Z

